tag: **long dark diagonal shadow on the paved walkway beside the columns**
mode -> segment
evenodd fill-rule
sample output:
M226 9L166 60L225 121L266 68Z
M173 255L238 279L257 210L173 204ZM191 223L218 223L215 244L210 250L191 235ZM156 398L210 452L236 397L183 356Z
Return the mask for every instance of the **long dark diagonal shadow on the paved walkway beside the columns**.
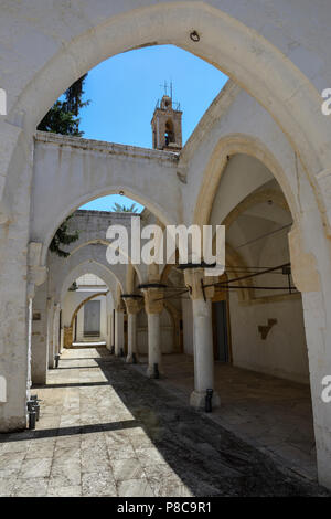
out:
M275 464L203 411L99 349L96 359L124 404L194 496L322 496L329 492Z

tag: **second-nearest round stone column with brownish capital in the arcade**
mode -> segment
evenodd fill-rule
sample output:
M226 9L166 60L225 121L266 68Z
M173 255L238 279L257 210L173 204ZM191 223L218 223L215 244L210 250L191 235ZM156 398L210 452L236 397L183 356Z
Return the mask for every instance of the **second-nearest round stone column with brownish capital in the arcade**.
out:
M148 368L147 375L154 378L154 364L162 374L161 327L160 314L163 310L163 290L161 288L145 288L145 309L148 319Z

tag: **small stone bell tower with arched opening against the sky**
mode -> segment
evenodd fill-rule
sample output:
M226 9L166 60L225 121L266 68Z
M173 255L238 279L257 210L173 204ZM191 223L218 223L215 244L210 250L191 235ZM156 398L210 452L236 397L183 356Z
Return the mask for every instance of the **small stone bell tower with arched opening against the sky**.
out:
M174 104L171 96L166 94L158 100L151 120L153 149L182 149L182 114L179 103Z

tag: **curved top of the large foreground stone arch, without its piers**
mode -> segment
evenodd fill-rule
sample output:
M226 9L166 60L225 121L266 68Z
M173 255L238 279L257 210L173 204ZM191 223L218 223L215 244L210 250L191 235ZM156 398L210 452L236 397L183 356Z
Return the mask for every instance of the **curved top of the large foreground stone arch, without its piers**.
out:
M329 168L330 123L321 115L319 93L276 46L239 21L239 12L235 19L222 7L222 2L217 9L190 1L159 2L119 14L107 10L103 22L81 29L67 45L55 50L52 60L42 63L10 106L11 113L24 112L25 128L35 127L65 88L100 61L145 45L172 43L244 85L288 135L309 174ZM261 9L259 17L269 19ZM190 39L192 30L199 42Z

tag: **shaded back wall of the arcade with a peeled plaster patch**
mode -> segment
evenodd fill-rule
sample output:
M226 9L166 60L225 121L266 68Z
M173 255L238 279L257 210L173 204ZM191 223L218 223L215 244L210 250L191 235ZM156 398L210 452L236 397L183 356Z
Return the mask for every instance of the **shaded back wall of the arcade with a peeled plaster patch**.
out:
M232 293L229 316L234 366L309 383L301 298L246 306ZM263 340L258 326L268 318L278 322Z

